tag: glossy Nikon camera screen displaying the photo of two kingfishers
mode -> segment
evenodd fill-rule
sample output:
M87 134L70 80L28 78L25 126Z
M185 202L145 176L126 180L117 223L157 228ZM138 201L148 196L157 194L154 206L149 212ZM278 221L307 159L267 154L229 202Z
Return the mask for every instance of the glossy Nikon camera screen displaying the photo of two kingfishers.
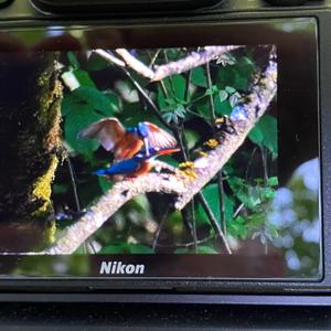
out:
M317 24L0 35L0 274L321 279Z

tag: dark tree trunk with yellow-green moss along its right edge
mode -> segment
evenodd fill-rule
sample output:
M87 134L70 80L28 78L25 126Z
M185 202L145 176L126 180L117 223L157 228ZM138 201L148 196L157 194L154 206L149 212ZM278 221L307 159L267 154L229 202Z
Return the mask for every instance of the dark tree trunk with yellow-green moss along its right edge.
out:
M22 250L52 243L56 231L51 194L61 162L62 85L55 60L56 54L41 52L20 63L8 55L1 63L1 82L9 82L2 84L3 94L10 99L9 104L7 98L6 103L0 100L0 108L8 110L0 114L0 140L8 141L2 146L6 158L0 159L6 174L0 185L0 218L20 224L17 236ZM12 76L20 77L13 97ZM15 249L17 242L10 245L2 248Z

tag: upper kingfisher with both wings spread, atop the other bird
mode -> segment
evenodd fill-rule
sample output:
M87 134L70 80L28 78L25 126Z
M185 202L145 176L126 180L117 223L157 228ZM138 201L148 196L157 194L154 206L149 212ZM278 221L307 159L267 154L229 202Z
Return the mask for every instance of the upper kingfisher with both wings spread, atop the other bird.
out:
M177 147L177 140L154 124L140 121L136 127L126 129L115 117L93 122L78 137L98 140L107 151L114 151L116 161L134 158L142 147L147 157L151 149Z

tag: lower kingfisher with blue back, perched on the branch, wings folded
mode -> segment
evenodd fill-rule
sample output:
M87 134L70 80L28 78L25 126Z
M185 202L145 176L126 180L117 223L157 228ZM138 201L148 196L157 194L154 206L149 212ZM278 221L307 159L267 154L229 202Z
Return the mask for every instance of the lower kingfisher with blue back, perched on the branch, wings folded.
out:
M93 173L97 175L111 177L117 181L122 180L125 178L136 178L150 172L153 168L152 161L157 157L174 153L178 151L179 148L150 148L149 154L147 154L146 150L141 149L132 158L121 160L110 166L109 168L99 169Z

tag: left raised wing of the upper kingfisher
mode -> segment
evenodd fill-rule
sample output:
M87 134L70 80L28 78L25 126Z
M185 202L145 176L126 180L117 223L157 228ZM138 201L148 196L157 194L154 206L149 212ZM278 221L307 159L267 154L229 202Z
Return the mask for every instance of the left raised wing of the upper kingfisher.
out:
M78 134L78 138L94 138L98 140L105 150L113 150L116 143L124 137L126 129L115 117L104 118L93 122Z

